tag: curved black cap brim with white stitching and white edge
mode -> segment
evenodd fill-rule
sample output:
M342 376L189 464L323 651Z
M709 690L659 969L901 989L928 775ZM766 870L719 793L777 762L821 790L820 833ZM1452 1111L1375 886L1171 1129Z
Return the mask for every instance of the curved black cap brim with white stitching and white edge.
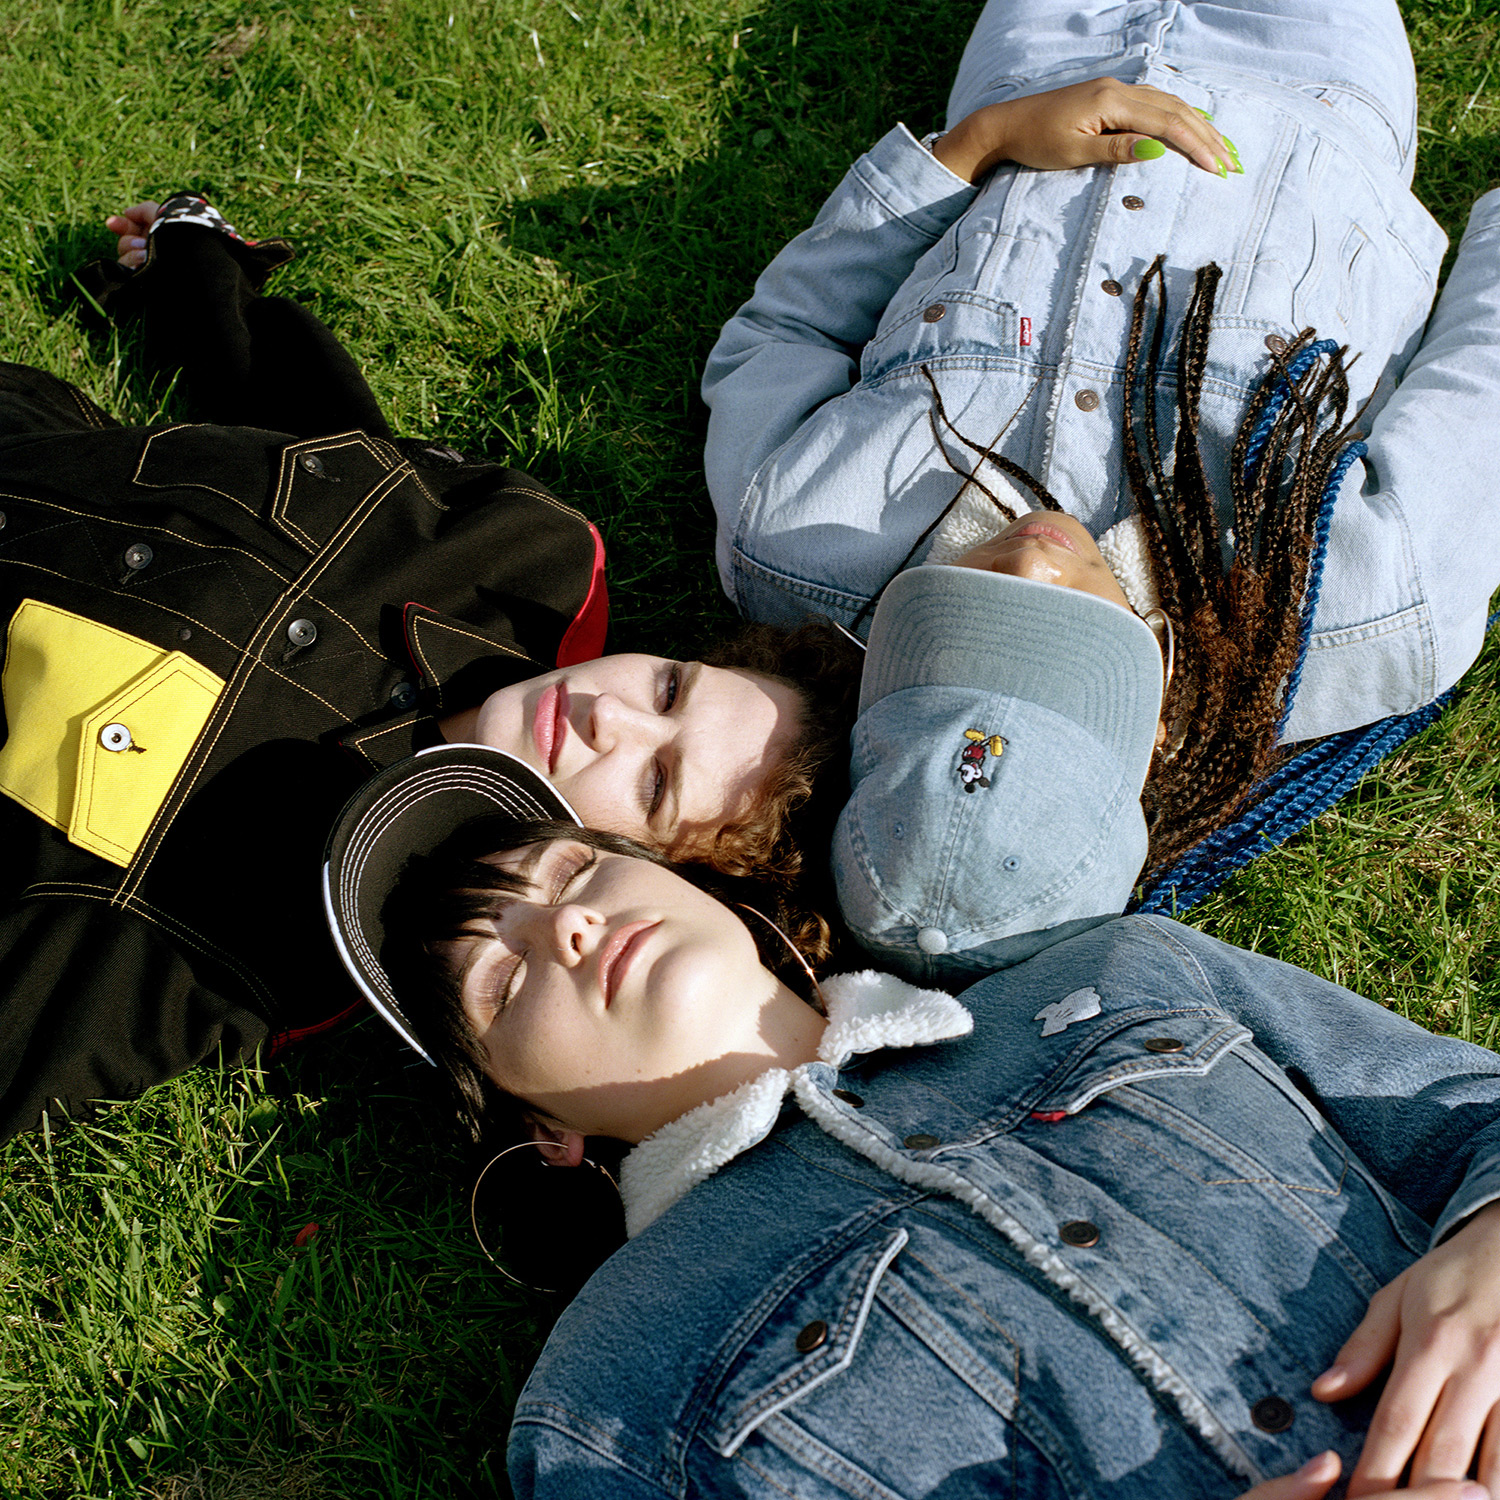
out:
M430 854L474 818L507 813L524 822L584 820L540 771L489 746L444 744L370 777L328 836L322 904L344 966L364 998L428 1062L380 962L381 914L406 861Z

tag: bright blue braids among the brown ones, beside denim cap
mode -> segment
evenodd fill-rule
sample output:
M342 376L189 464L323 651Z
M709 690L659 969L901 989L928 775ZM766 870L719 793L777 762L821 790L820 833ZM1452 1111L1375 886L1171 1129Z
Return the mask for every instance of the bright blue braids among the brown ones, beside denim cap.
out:
M1332 339L1310 344L1287 366L1287 375L1298 381L1316 358L1332 354L1338 345ZM1260 420L1250 435L1245 450L1245 478L1251 478L1276 412L1286 404L1292 386L1281 378L1275 394L1266 404ZM1312 614L1317 608L1318 590L1323 584L1323 564L1328 558L1328 536L1334 524L1334 504L1354 459L1362 459L1370 450L1364 442L1352 442L1340 453L1323 496L1318 501L1317 524L1312 532L1312 552L1308 560L1308 584L1302 597L1302 621L1298 640L1298 660L1287 678L1287 694L1281 710L1276 734L1286 728L1302 681L1302 664L1306 660L1308 640L1312 634ZM1500 620L1500 612L1490 624ZM1148 885L1134 910L1174 916L1197 906L1206 896L1216 891L1236 870L1242 870L1257 855L1286 843L1300 832L1314 818L1346 796L1372 766L1406 744L1414 734L1426 729L1454 700L1456 687L1410 714L1394 714L1362 729L1348 729L1340 735L1318 740L1292 756L1270 772L1256 789L1256 802L1233 824L1209 834L1194 844L1173 866Z

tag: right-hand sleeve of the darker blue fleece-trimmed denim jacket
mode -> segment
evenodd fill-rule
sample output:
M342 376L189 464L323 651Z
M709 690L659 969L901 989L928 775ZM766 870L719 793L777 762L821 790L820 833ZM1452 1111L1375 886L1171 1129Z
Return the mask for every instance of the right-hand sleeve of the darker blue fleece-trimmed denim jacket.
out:
M1500 1200L1500 1056L1275 958L1198 933L1191 948L1220 1004L1432 1224L1434 1245Z

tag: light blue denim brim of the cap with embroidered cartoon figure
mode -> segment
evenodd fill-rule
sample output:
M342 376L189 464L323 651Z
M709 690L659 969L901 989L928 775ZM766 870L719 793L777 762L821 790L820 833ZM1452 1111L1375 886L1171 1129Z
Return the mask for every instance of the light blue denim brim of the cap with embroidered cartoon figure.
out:
M870 626L860 712L909 687L958 687L1071 718L1146 780L1161 718L1161 648L1106 598L969 567L894 578Z

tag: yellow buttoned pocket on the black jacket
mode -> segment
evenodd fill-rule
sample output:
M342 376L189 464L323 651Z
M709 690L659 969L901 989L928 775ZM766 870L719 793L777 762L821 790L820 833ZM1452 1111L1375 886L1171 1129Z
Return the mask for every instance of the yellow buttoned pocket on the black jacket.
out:
M0 792L126 866L224 692L182 651L27 598L6 636Z

